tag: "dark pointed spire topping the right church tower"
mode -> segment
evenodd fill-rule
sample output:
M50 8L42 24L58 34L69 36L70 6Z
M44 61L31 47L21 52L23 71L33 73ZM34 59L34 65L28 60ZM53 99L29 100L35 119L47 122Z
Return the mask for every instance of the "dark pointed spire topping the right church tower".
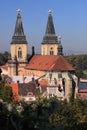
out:
M42 44L44 43L57 43L58 44L58 40L55 34L55 28L53 24L52 11L49 10L48 13L49 15L48 15L47 27L46 27L45 36L43 37Z

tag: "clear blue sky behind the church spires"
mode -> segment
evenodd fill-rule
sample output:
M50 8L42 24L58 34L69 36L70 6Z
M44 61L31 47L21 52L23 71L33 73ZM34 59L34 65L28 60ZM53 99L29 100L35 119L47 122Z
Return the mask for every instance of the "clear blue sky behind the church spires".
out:
M0 0L0 52L10 52L17 9L21 9L28 53L32 46L40 53L48 10L52 10L56 35L63 51L87 54L87 0Z

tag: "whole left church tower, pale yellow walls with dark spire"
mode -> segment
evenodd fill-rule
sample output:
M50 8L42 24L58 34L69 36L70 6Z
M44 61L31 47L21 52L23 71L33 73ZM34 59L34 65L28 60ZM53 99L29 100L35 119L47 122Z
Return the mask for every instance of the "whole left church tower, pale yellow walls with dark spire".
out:
M10 76L23 75L24 74L23 69L28 63L27 61L28 43L26 41L26 36L24 35L24 29L20 14L21 10L18 9L17 12L18 15L14 35L12 37L12 41L10 44L11 56L10 59L8 60L9 65L8 73Z

